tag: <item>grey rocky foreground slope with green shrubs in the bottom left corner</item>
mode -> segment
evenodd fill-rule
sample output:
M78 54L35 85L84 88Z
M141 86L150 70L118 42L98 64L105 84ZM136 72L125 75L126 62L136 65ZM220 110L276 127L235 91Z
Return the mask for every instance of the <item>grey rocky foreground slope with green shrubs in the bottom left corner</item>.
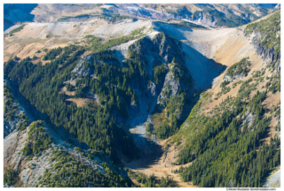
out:
M5 133L4 187L131 187L125 172L115 167L109 157L91 151L74 138L72 144L67 144L72 140L70 134L39 120L41 114L19 92L11 91L12 83L5 81L4 85L5 96L9 92L12 102L22 104L18 103L18 107L25 119L17 129L8 126L10 132ZM17 114L11 119L4 116L8 121L4 123L15 123L17 118Z

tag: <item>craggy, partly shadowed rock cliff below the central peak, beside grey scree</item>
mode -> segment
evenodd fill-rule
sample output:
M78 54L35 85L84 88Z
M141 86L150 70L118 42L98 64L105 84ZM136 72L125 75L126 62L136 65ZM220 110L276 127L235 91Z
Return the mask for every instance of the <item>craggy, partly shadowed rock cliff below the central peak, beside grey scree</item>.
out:
M150 80L147 88L148 95L153 97L152 99L161 110L167 107L171 98L183 92L186 93L187 98L193 95L193 79L185 67L185 53L179 41L160 33L156 34L153 39L145 37L134 42L130 45L131 51L143 55L140 60L146 62L145 69ZM161 73L157 79L159 69L163 69L164 73ZM141 87L140 91L144 91L144 88ZM185 111L181 111L183 112Z

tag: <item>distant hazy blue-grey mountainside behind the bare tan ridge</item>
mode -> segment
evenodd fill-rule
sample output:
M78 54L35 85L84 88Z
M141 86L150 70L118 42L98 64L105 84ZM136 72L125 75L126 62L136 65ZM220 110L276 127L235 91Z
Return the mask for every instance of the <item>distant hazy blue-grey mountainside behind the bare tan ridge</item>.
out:
M99 15L185 19L206 27L239 27L279 9L280 4L5 4L4 30L11 27L11 22L56 22L72 17L84 20Z

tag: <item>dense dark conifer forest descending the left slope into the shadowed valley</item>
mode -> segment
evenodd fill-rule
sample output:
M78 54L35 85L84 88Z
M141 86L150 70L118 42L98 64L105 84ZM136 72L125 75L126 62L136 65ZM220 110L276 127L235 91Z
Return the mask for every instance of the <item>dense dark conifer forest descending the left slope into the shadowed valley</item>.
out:
M108 106L105 110L100 108L98 111L79 108L75 103L68 105L67 95L59 93L59 89L64 87L63 82L71 79L71 71L84 52L82 47L74 45L63 50L62 54L46 65L33 65L28 57L20 62L9 60L4 66L4 75L18 84L20 93L35 105L38 111L46 113L52 124L64 127L79 141L87 143L91 149L103 150L114 160L117 159L117 149L128 157L138 157L138 149L130 135L115 125L111 110L106 110ZM95 88L98 83L101 82L90 82ZM98 88L96 91L103 91L103 88L102 86L101 90ZM114 86L110 86L110 92L115 92ZM128 92L129 96L133 95L133 91ZM110 99L117 100L117 96L119 95Z

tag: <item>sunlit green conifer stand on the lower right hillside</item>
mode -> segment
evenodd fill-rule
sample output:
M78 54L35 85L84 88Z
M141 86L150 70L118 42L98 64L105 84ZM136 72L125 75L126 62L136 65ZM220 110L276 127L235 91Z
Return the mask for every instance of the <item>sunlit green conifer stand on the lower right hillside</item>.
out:
M271 117L264 117L266 108L261 104L267 91L259 93L246 103L238 97L233 111L209 118L204 129L192 138L179 154L178 164L193 164L178 172L184 181L193 181L200 187L261 187L267 172L280 165L280 139L263 139ZM245 113L254 114L251 126ZM236 118L239 116L239 118ZM195 158L196 157L196 158Z

